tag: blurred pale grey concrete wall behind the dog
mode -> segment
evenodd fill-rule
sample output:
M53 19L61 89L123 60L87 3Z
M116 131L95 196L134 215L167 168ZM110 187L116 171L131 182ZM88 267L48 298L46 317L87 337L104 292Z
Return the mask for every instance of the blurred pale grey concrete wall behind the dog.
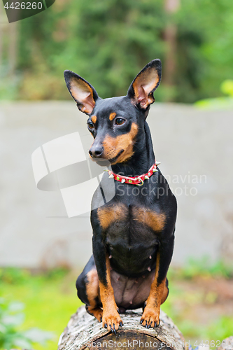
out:
M0 265L83 266L92 252L89 214L67 218L61 193L36 188L31 154L79 132L92 143L73 102L0 105ZM173 263L190 256L232 260L232 111L154 104L148 116L156 159L178 200Z

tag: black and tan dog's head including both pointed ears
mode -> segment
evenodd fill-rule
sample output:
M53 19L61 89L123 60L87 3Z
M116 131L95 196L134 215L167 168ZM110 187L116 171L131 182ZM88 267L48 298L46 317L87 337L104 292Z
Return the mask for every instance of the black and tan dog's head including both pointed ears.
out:
M126 96L101 99L94 87L72 71L64 71L66 86L78 109L87 114L87 128L94 137L90 157L99 165L127 162L140 147L144 121L153 92L160 84L160 59L148 63L134 78Z

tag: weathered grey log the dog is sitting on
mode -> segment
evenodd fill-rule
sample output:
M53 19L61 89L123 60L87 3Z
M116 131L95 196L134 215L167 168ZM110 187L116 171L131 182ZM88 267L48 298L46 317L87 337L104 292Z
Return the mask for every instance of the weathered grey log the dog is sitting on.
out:
M58 350L185 349L183 335L167 314L161 311L160 325L149 329L140 324L141 314L141 309L121 314L124 325L114 335L102 328L102 324L82 306L71 316L59 339Z

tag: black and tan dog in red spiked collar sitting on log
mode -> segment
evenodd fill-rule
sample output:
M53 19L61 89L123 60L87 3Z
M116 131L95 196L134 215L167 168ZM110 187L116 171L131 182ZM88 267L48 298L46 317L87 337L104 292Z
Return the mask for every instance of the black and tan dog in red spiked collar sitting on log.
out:
M87 312L112 332L122 325L119 313L138 307L143 307L143 326L159 325L160 305L169 293L176 198L157 169L146 122L161 71L160 59L154 59L134 78L126 96L110 99L98 97L76 73L64 72L78 109L89 116L87 127L94 137L90 157L99 165L108 161L111 171L103 179L115 183L115 196L104 206L99 206L101 188L94 193L93 255L76 282Z

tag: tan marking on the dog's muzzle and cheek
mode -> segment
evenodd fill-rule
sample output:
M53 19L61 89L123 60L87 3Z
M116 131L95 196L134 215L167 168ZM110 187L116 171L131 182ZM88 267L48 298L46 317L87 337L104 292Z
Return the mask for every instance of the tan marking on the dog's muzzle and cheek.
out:
M118 137L111 137L107 135L103 141L104 158L111 160L115 158L122 150L124 150L124 152L122 152L115 162L111 163L112 165L125 162L127 159L131 158L134 154L133 146L137 133L138 126L136 123L132 123L131 130L127 132L127 134L122 134Z

